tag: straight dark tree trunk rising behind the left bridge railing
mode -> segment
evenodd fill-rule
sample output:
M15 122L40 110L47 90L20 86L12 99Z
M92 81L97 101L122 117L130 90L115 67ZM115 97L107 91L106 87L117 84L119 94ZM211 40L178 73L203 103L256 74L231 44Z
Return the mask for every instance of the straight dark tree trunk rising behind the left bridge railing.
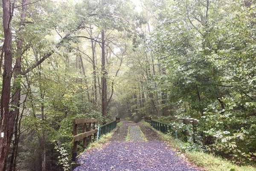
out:
M105 68L105 37L104 30L101 31L102 35L102 116L107 114L107 71Z

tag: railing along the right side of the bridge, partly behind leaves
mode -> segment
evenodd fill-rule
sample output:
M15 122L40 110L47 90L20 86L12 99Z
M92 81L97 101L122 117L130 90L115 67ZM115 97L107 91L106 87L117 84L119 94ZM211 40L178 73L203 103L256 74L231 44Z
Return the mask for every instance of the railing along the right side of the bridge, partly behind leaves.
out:
M191 120L191 119L183 119L183 123L185 125L187 124L192 124L193 126L193 134L192 134L192 138L193 138L193 142L196 142L196 124L197 124L197 120ZM178 138L178 130L177 128L173 127L172 125L169 125L169 124L166 124L166 123L162 123L162 122L159 122L157 120L151 120L151 126L155 129L157 129L158 131L161 131L163 133L167 133L167 132L173 132L174 136L176 138ZM190 134L189 134L189 131L185 130L185 131L182 131L183 135L186 137L189 137Z

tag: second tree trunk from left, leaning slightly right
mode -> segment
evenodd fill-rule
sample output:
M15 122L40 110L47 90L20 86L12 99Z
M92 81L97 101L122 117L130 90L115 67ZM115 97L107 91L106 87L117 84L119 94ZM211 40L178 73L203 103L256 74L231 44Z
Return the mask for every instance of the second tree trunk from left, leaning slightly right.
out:
M22 0L22 11L20 15L20 29L19 33L23 31L23 25L25 22L26 17L26 9L27 9L27 3L29 0ZM19 118L20 113L20 77L21 77L21 57L22 57L22 49L23 49L23 39L18 38L17 39L17 53L16 53L16 60L15 60L15 66L13 68L13 74L14 74L14 94L12 95L12 106L14 106L14 110L10 112L9 117L9 124L8 124L8 132L7 132L7 153L9 152L10 145L12 142L12 136L13 136L13 129L15 125L15 120ZM17 120L18 121L18 120ZM15 140L18 141L18 140ZM15 154L15 153L14 153ZM10 163L10 171L13 170L13 162L14 158L12 157L11 163Z

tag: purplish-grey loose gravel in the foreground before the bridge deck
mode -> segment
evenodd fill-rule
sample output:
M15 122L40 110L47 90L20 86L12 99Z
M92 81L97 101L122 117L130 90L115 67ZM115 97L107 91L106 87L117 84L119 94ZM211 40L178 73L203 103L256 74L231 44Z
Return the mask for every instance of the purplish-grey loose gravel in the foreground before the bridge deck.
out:
M75 171L199 171L162 141L110 142L83 154Z

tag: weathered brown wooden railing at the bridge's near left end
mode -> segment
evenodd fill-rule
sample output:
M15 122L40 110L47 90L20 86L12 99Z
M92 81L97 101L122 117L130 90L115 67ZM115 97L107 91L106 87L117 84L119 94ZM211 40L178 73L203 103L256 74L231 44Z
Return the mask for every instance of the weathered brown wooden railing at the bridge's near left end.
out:
M73 162L76 162L78 141L83 140L83 148L86 148L86 145L92 141L92 136L94 137L94 140L96 139L96 134L98 131L95 125L96 122L97 120L94 118L73 120ZM78 125L82 125L81 134L77 134ZM91 128L93 128L93 130L91 130Z

